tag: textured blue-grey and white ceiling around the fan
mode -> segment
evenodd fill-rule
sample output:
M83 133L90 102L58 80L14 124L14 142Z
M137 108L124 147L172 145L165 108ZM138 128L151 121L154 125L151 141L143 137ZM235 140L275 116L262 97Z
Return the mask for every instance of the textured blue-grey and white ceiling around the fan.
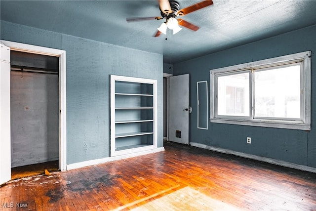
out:
M200 0L178 0L180 8ZM200 29L154 38L163 20L157 0L0 1L1 20L95 41L163 54L165 63L258 41L316 24L316 0L213 0L182 19Z

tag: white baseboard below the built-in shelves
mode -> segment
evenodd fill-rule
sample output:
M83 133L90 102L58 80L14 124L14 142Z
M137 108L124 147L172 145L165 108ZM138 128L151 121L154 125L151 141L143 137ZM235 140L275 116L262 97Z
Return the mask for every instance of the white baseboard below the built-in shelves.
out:
M158 147L157 149L146 150L143 152L131 153L131 154L126 154L126 155L119 155L119 156L115 156L115 157L101 158L101 159L83 161L83 162L74 163L74 164L68 164L67 170L78 169L78 168L97 165L97 164L103 164L103 163L107 163L107 162L111 162L111 161L118 161L121 159L132 158L132 157L136 157L136 156L140 156L140 155L147 155L150 153L161 152L161 151L164 151L164 147Z

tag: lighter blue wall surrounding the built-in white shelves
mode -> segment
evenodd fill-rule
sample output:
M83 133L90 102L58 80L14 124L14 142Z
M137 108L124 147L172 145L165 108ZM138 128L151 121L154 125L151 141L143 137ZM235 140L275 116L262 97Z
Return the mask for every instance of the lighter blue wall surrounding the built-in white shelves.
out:
M157 79L163 146L162 55L5 21L0 39L66 51L67 164L110 156L110 75Z

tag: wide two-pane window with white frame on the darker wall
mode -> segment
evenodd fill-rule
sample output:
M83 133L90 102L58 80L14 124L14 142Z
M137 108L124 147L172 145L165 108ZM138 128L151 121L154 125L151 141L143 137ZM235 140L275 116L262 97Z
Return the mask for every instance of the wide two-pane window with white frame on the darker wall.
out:
M310 55L211 70L211 122L311 130Z

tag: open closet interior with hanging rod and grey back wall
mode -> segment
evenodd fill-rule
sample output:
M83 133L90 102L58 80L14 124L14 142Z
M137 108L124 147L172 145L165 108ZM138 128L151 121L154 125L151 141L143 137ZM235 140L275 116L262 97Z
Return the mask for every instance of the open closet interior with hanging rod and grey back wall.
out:
M11 179L59 170L59 57L10 56Z

